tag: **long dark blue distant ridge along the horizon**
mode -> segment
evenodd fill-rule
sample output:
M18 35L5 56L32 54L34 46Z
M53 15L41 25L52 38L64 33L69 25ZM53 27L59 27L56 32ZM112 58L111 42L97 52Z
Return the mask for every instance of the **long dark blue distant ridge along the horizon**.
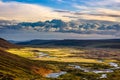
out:
M28 46L77 46L87 48L120 48L120 39L101 39L101 40L31 40L18 42L18 45Z

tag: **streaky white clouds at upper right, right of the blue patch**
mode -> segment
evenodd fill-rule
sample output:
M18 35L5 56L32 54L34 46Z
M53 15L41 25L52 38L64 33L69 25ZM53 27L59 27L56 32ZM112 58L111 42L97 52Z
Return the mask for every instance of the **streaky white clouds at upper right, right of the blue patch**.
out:
M118 2L118 0L115 0ZM106 20L120 22L120 10L106 7L112 5L113 0L101 0L94 3L86 2L86 5L74 4L73 7L78 10L76 17L89 20ZM119 1L120 2L120 1ZM116 3L118 4L118 3ZM93 6L94 5L94 6Z

